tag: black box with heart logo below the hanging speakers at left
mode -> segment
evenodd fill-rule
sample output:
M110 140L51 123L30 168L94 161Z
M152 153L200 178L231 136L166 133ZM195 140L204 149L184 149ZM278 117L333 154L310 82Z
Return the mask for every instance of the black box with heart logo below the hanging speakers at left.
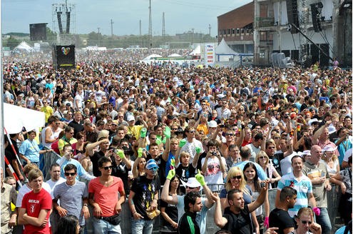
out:
M53 46L53 67L75 68L75 46Z

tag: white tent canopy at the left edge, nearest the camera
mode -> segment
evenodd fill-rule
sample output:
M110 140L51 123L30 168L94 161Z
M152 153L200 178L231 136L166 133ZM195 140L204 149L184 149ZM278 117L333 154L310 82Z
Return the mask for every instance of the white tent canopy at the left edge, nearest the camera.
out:
M22 127L31 131L43 127L45 123L45 114L41 111L4 103L4 128L9 134L21 132Z

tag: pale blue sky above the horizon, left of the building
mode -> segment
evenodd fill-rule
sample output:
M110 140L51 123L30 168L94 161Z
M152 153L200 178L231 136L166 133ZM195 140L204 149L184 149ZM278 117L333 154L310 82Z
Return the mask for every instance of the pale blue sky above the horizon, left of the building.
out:
M165 13L165 34L175 35L194 29L195 33L217 35L217 16L249 3L250 0L152 0L153 35L162 34ZM65 1L1 0L1 31L29 33L29 24L48 23L53 29L52 4ZM76 6L76 34L98 31L114 35L148 34L149 0L68 0ZM56 25L56 28L58 26Z

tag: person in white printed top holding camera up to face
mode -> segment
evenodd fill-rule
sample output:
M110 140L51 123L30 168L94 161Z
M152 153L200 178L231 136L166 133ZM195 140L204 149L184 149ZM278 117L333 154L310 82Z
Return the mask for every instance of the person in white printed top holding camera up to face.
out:
M226 176L225 158L218 151L218 142L215 140L208 141L208 153L201 160L203 165L202 171L205 174L205 180L208 184L222 184L223 178ZM210 186L213 191L220 190L217 185Z

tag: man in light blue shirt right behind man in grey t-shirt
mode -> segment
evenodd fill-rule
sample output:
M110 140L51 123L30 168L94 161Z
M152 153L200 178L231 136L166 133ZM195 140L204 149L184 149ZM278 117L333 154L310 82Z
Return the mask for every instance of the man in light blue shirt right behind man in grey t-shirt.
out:
M61 168L61 177L65 178L65 171L64 168L66 167L66 165L68 164L73 164L76 166L77 168L77 174L76 176L80 176L81 178L85 179L85 180L92 180L93 178L96 178L93 175L88 174L88 172L83 168L83 166L81 165L80 162L78 162L75 158L73 158L73 149L71 145L65 145L63 146L63 156L61 158L59 158L56 163L58 163L58 165L60 165ZM76 179L78 180L78 177L76 177Z

